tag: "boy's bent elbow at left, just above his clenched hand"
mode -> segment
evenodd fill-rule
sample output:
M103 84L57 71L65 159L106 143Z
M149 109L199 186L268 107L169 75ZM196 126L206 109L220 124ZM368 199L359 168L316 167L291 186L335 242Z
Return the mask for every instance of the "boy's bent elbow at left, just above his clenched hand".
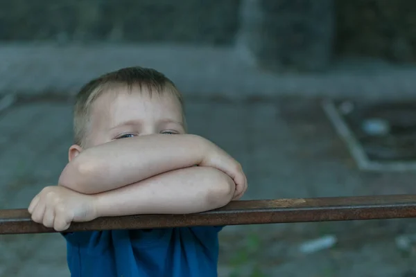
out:
M65 166L59 177L58 185L64 186L78 193L94 194L96 191L92 190L92 180L96 179L96 170L100 166L96 161L87 159L73 159Z

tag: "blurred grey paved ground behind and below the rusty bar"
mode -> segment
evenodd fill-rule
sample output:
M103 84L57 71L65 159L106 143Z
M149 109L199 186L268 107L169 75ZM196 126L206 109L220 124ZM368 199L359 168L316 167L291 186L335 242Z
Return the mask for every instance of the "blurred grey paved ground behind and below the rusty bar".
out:
M304 98L303 98L304 99ZM257 102L189 97L191 132L241 161L245 199L416 193L415 174L359 172L315 100ZM0 114L0 208L24 208L54 184L71 143L67 102L21 103ZM221 233L221 276L416 276L415 256L395 238L414 220L229 226ZM304 255L300 243L338 236L329 250ZM245 274L241 273L245 271ZM413 275L412 275L413 274ZM59 235L0 236L0 276L69 276Z

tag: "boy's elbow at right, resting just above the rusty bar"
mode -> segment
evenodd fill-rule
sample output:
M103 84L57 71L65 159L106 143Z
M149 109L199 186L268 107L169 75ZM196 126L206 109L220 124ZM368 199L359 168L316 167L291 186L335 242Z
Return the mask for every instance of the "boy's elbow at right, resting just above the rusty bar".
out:
M211 209L220 208L231 202L236 185L225 173L216 170L216 178L212 178L211 189L207 193L207 206Z

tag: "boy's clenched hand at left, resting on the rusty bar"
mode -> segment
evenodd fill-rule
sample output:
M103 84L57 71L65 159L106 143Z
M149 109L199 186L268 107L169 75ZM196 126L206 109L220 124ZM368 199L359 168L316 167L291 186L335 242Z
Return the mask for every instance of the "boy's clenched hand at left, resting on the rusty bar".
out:
M33 198L28 208L34 222L55 231L64 231L71 222L96 218L95 197L76 193L63 186L48 186Z

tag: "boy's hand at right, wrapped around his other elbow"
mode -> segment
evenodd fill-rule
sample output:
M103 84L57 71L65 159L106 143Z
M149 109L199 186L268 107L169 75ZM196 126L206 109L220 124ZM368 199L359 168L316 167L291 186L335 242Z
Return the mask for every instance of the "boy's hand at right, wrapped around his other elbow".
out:
M247 190L247 178L241 164L233 159L227 152L220 149L214 143L207 141L204 158L200 166L211 166L225 172L236 184L236 190L232 200L240 199Z

